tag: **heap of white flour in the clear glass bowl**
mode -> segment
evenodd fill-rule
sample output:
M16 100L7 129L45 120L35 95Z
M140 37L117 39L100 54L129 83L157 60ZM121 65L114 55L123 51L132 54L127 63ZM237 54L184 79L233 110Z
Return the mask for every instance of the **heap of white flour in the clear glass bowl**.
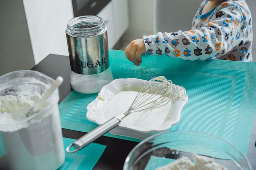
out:
M197 154L193 154L193 157L195 158L195 164L188 157L181 157L155 170L227 170L224 166L216 163L213 158Z

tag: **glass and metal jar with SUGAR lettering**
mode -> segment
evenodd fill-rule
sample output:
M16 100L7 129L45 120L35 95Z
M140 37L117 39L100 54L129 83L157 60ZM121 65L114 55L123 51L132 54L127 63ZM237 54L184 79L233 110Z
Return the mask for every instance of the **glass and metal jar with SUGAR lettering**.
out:
M98 16L75 17L67 22L70 85L79 93L98 93L113 80L108 57L108 35Z

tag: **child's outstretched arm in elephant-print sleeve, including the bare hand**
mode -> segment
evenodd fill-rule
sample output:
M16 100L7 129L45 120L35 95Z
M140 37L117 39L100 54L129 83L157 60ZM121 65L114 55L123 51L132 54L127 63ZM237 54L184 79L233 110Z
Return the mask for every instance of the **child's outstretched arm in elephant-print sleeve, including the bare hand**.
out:
M199 23L206 20L199 29L157 33L132 41L126 48L126 57L137 66L142 62L143 53L165 54L184 60L212 60L222 57L247 43L244 40L244 14L233 3L220 5L208 18L197 19Z

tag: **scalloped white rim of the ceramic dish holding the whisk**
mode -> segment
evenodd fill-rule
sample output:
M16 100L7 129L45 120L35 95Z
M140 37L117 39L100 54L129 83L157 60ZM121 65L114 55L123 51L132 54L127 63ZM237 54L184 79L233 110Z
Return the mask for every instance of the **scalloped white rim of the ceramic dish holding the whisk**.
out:
M137 86L139 86L140 84L142 85L143 82L146 82L146 81L147 80L137 79L137 78L114 79L109 84L106 84L105 86L103 86L99 92L99 95L96 97L96 99L94 99L90 104L88 104L86 118L98 125L103 124L104 121L106 121L106 120L102 120L104 118L100 117L99 115L98 115L98 117L99 117L99 119L102 118L101 120L95 119L95 117L94 118L92 117L92 115L97 117L97 114L99 112L102 112L102 110L99 110L99 108L94 108L94 105L96 105L97 102L104 103L104 102L106 102L106 99L107 99L107 102L110 102L110 98L113 97L115 94L119 93L119 89L124 87L125 84L129 86L128 83L133 83L133 84L135 83ZM184 87L176 85L176 84L173 84L173 86L175 86L175 88L181 88L184 91L182 96L179 99L177 99L175 102L173 102L174 106L177 104L180 104L179 107L177 107L177 106L174 107L175 119L172 119L173 118L173 115L172 115L171 119L169 119L168 121L166 121L164 123L164 125L166 124L164 127L161 126L161 128L152 128L149 130L143 130L143 128L119 124L117 127L110 130L110 133L112 133L113 135L121 135L121 136L135 137L138 139L145 139L146 137L153 135L157 132L162 132L162 131L168 130L173 125L177 124L180 121L180 115L181 115L182 109L183 109L184 105L186 104L186 102L188 101L188 96L186 95L186 89ZM119 89L117 89L117 87L119 87ZM102 100L102 99L105 99L105 100ZM107 105L107 103L105 103L105 104ZM101 113L101 115L103 115L103 114L104 113ZM170 124L167 124L167 123L170 123ZM132 133L134 133L134 134L132 134ZM143 136L146 136L146 137L143 137Z

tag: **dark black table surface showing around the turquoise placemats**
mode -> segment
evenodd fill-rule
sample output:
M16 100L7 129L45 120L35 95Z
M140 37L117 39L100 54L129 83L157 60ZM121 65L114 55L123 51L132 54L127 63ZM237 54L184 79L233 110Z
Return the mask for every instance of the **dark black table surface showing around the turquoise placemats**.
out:
M60 100L59 103L67 97L72 91L70 87L70 61L68 56L49 54L31 70L40 71L53 79L62 76L64 81L59 87ZM63 137L78 139L85 135L85 132L62 129ZM242 139L241 139L242 140ZM250 138L247 157L252 164L252 169L256 170L256 117L254 118L254 125ZM126 156L130 150L138 143L134 141L127 141L116 139L112 137L101 136L94 143L106 145L106 150L101 155L101 158L94 167L94 170L122 170Z

